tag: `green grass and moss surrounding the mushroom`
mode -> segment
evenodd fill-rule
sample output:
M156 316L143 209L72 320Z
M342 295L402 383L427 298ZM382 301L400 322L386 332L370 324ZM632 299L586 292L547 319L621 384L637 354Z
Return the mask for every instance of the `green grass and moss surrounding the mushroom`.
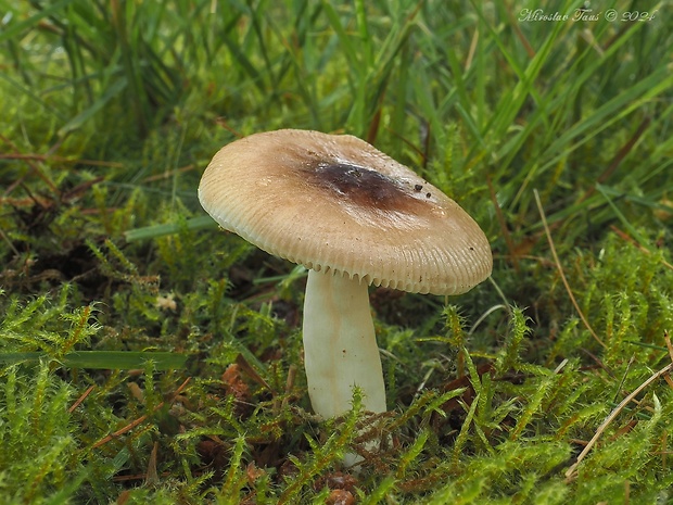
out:
M673 17L646 3L0 0L2 503L673 501ZM377 422L357 392L312 415L305 273L196 201L280 127L367 139L493 247L462 296L371 290Z

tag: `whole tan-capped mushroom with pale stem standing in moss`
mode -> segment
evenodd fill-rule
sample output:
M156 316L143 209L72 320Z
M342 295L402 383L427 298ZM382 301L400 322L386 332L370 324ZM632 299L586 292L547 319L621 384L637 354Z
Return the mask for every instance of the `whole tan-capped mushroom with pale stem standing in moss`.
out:
M316 414L385 412L368 286L459 294L491 275L479 225L437 188L350 135L282 129L224 147L199 187L225 229L308 268L304 362Z

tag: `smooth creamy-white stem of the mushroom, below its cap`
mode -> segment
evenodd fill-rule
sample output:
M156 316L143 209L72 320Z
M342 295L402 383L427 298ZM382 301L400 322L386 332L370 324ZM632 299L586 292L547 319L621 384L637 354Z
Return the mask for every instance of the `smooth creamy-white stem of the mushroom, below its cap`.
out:
M367 282L331 270L308 270L304 362L316 414L329 418L347 412L354 386L363 391L366 411L385 412L385 386Z

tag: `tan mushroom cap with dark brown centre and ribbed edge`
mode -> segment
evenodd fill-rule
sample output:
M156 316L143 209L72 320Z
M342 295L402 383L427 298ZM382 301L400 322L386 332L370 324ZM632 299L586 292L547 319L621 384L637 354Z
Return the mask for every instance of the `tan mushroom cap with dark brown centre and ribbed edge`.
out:
M456 202L350 135L236 140L205 169L199 200L269 254L376 286L458 294L493 267L484 232Z

